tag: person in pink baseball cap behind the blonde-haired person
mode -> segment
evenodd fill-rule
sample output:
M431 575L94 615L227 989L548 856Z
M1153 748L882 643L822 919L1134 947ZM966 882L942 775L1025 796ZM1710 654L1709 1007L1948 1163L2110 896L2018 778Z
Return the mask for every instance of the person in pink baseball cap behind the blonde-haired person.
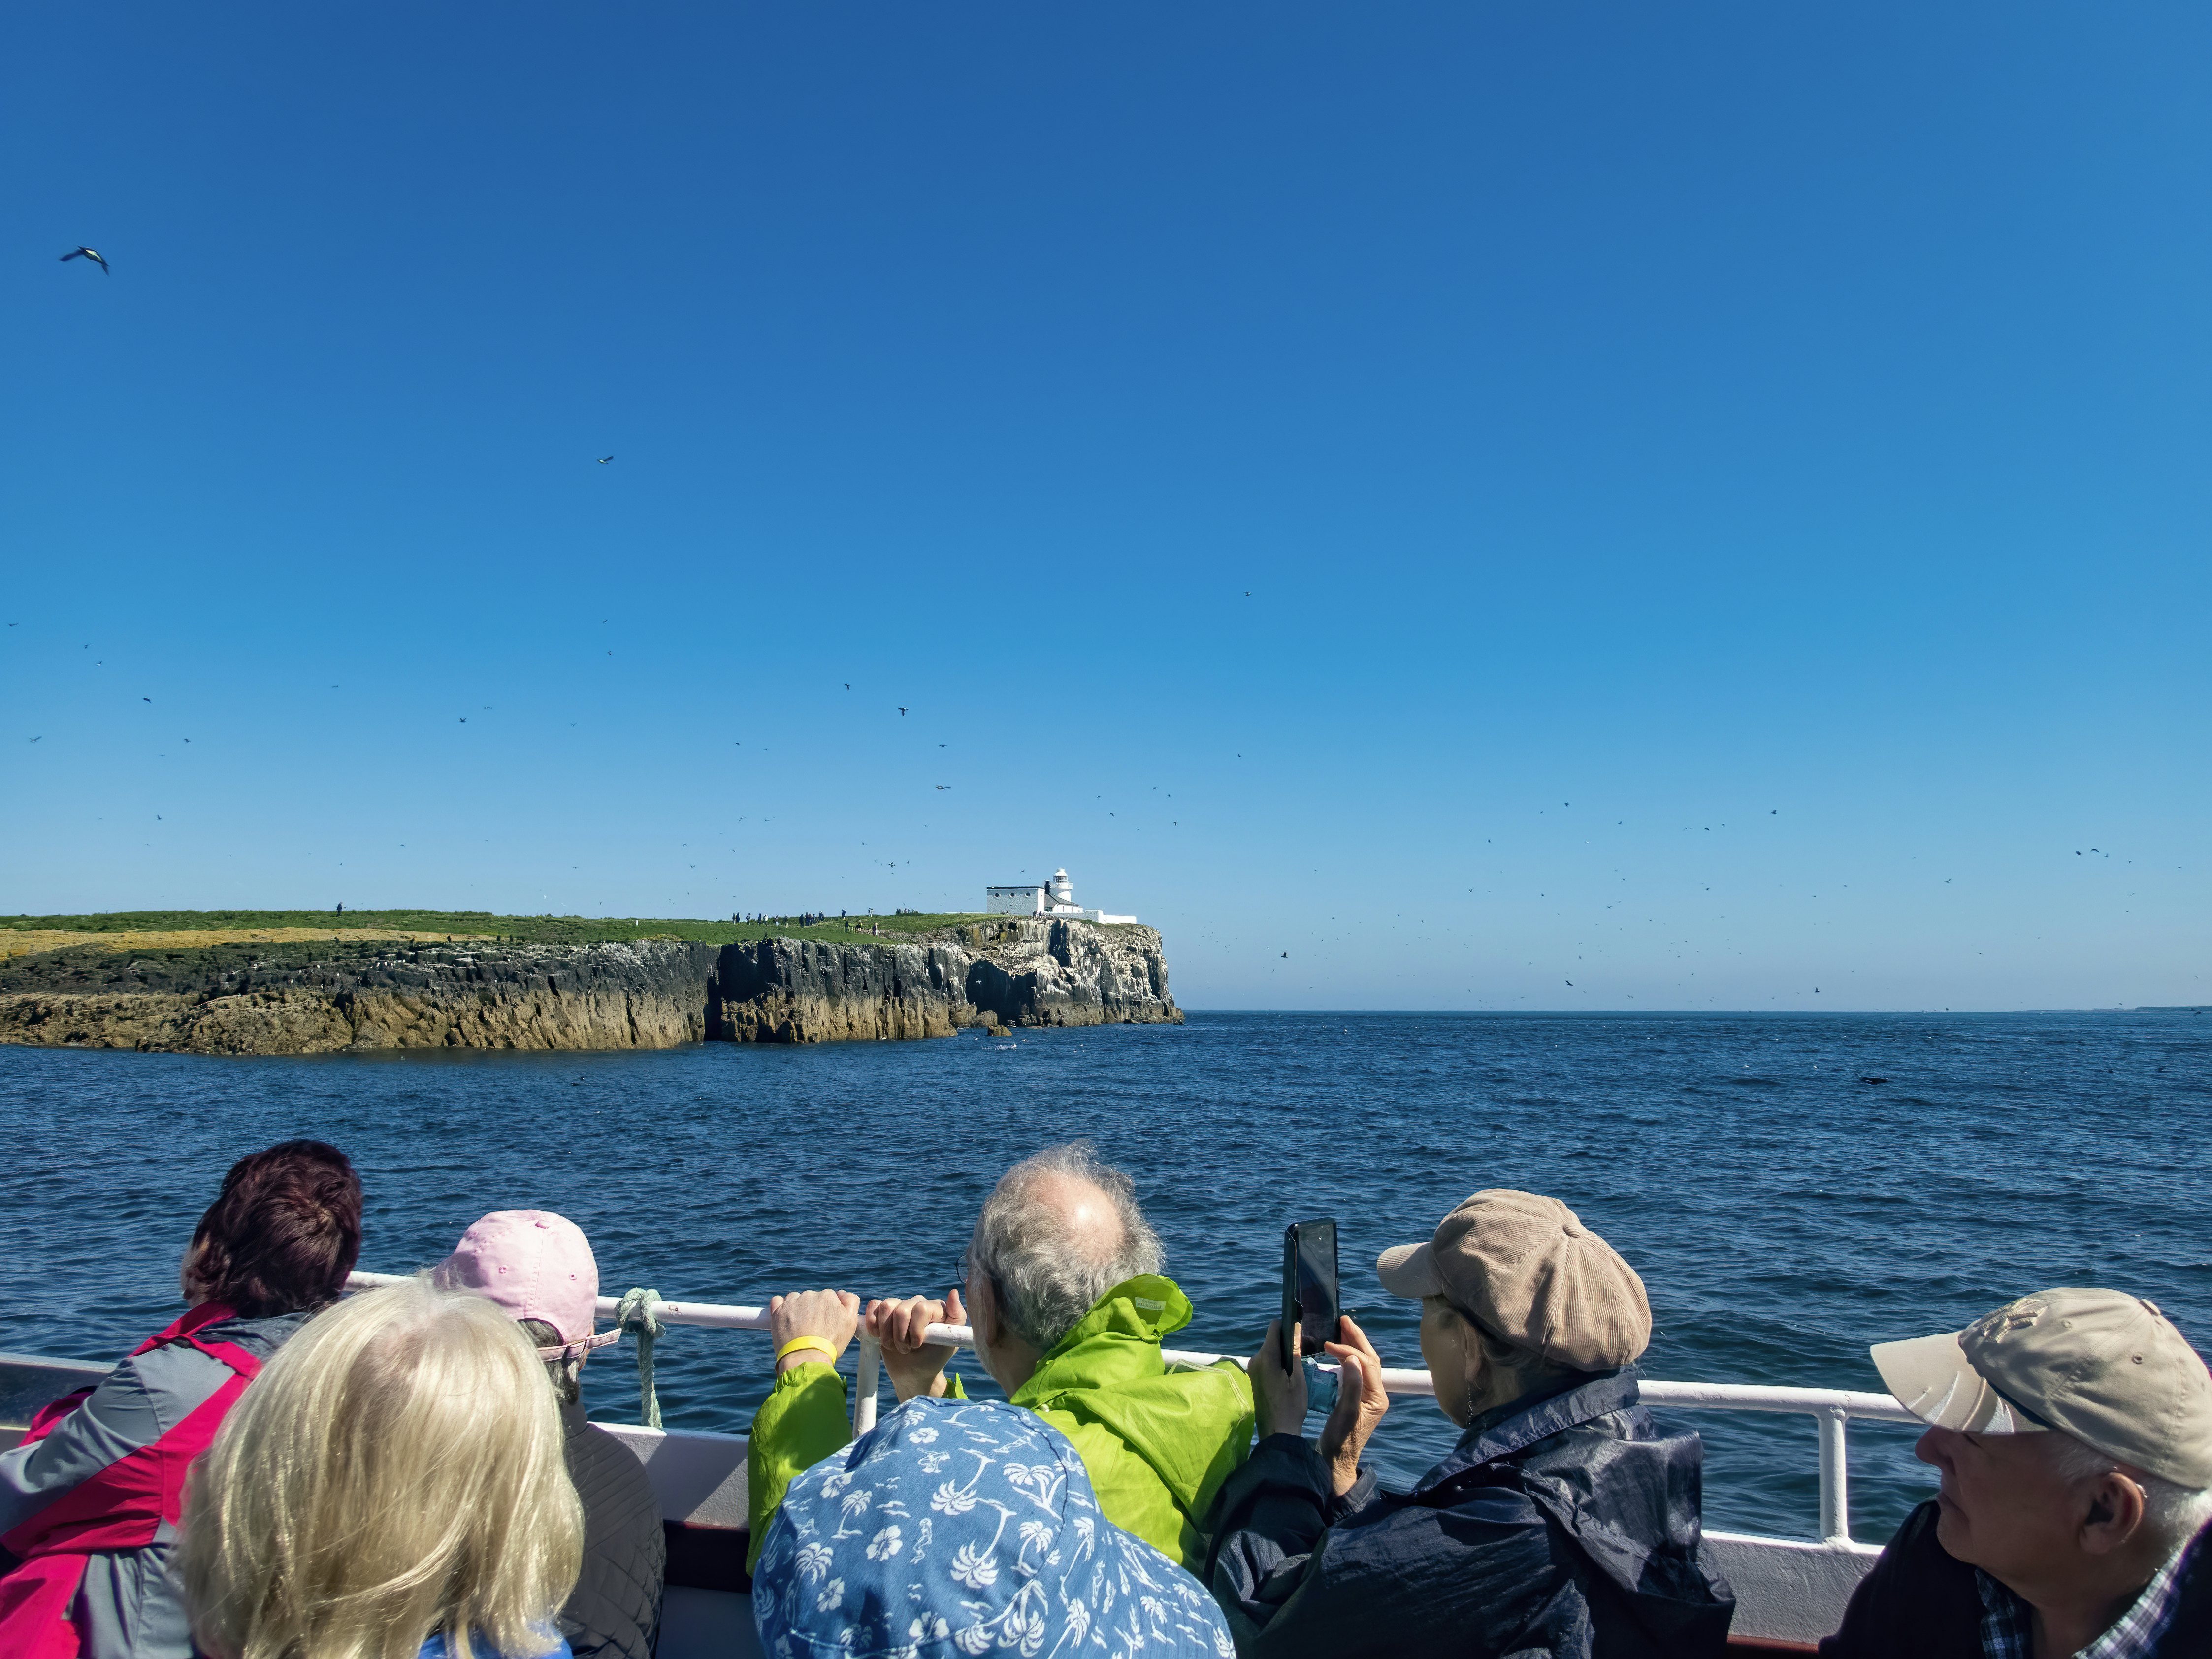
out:
M568 1648L575 1659L650 1659L668 1540L644 1464L584 1418L584 1360L622 1340L619 1329L595 1332L599 1263L591 1241L551 1210L495 1210L460 1234L429 1276L440 1290L467 1290L502 1307L546 1363L568 1480L584 1500L584 1573L560 1613Z

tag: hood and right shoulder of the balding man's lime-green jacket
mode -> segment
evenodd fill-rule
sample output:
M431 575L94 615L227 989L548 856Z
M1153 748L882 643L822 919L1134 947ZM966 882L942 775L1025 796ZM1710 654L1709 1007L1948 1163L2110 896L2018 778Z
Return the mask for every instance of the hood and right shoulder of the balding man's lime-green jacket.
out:
M1243 1367L1161 1358L1161 1338L1188 1323L1190 1298L1170 1279L1126 1279L1013 1391L1075 1442L1106 1520L1172 1562L1203 1555L1199 1522L1252 1451Z

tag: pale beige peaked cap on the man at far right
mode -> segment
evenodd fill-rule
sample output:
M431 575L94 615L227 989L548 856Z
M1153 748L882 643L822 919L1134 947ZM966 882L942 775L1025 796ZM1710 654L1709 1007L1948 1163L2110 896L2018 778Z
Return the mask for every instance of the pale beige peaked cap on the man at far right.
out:
M2212 1374L2141 1296L2037 1290L1962 1332L1869 1352L1924 1422L1962 1433L2059 1429L2148 1475L2212 1486Z

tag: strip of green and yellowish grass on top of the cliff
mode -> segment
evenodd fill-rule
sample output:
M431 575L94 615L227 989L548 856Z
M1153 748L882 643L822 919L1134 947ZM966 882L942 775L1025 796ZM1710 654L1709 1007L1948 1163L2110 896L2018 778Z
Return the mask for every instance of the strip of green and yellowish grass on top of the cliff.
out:
M133 909L102 916L0 916L0 931L71 931L71 933L197 933L254 927L389 927L409 933L491 933L522 945L602 945L608 940L703 940L732 945L752 938L818 938L856 940L909 938L938 933L984 920L980 914L947 916L854 916L830 918L799 927L796 918L768 922L703 922L668 916L491 916L458 909L349 909L343 916L327 909Z

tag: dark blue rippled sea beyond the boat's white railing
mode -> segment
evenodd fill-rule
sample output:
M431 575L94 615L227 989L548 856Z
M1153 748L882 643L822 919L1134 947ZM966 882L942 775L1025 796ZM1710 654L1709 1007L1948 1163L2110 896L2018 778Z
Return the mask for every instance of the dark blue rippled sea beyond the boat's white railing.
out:
M1867 1343L2062 1283L2152 1296L2212 1343L2212 1018L2185 1013L1212 1013L560 1057L0 1048L0 1347L35 1354L113 1358L173 1318L223 1168L292 1135L361 1166L363 1265L387 1272L484 1210L540 1206L588 1230L608 1292L942 1294L995 1175L1091 1135L1197 1303L1188 1347L1250 1352L1283 1223L1329 1214L1345 1298L1385 1360L1418 1365L1374 1256L1484 1186L1559 1194L1637 1265L1648 1376L1878 1389ZM586 1371L595 1413L635 1418L628 1354ZM765 1385L765 1338L659 1345L670 1425L743 1429ZM1809 1420L1674 1420L1708 1440L1708 1524L1812 1533ZM1400 1400L1376 1447L1411 1480L1451 1440ZM1851 1447L1854 1533L1878 1542L1931 1480L1902 1427Z

